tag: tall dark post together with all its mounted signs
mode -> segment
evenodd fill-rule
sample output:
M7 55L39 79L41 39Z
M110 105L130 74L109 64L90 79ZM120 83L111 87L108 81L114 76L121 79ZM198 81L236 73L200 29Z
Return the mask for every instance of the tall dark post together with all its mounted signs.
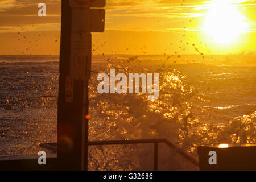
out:
M91 32L103 32L105 0L62 0L57 154L64 169L88 166Z

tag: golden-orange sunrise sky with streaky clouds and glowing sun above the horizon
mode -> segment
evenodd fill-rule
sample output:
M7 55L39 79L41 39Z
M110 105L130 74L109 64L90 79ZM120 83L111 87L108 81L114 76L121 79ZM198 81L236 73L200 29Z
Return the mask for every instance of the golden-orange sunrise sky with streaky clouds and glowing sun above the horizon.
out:
M47 16L38 16L38 3ZM60 0L0 0L0 54L59 54ZM106 0L94 54L226 54L256 50L256 1Z

